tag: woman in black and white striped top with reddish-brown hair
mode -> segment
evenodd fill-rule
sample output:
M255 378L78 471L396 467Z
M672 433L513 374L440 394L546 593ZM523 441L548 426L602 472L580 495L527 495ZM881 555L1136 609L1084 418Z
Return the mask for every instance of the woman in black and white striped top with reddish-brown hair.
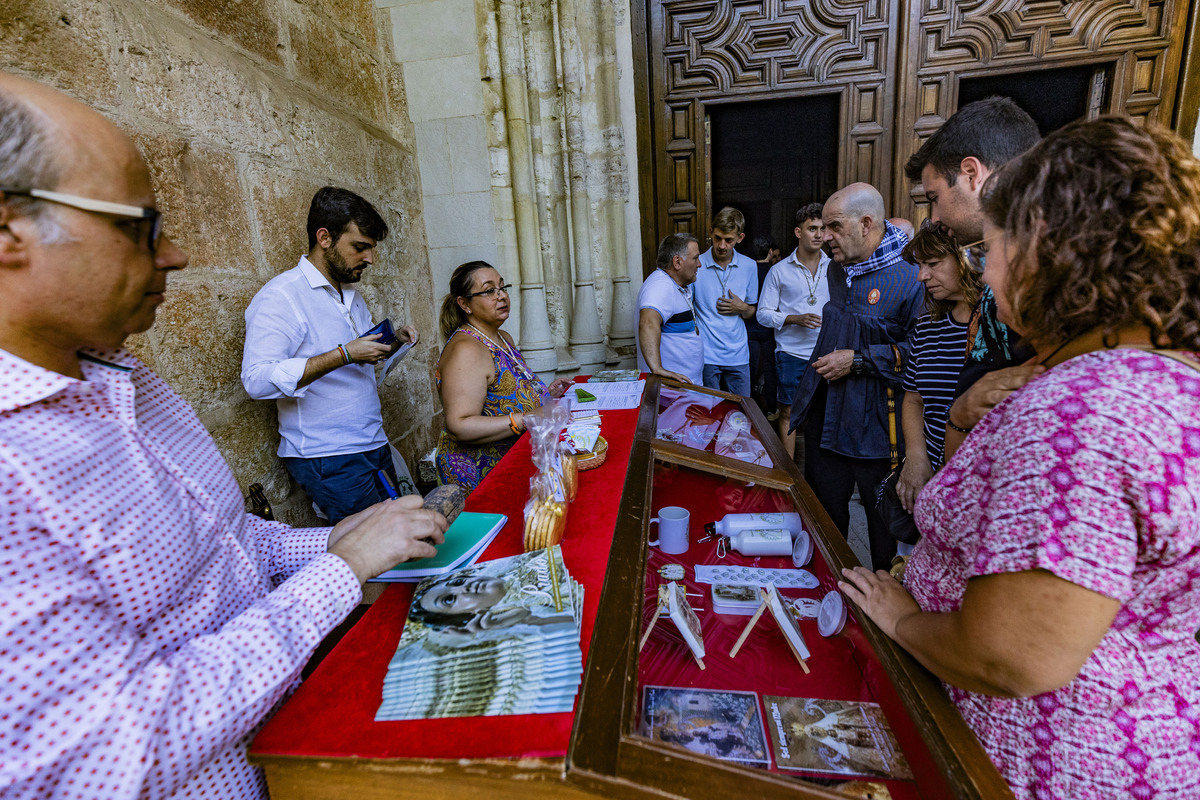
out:
M918 265L917 279L925 284L929 309L912 332L900 413L905 463L896 494L912 512L920 489L942 465L946 417L966 357L967 320L979 300L983 278L967 264L954 236L928 219L902 257Z

